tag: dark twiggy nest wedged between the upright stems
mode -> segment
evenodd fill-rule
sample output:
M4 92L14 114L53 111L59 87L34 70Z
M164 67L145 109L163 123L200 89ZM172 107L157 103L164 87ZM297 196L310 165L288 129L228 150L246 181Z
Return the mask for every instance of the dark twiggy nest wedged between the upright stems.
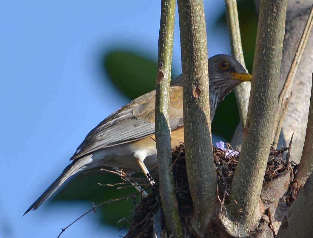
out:
M282 155L286 150L288 150L288 147L282 148L280 150L275 150L273 147L271 147L269 160L264 176L264 182L272 180L273 178L277 177L281 172L286 170L285 160L282 158ZM214 163L218 177L218 197L221 204L223 204L229 196L231 182L233 180L233 175L239 158L238 153L227 152L229 152L229 144L226 150L213 147ZM187 179L185 149L183 144L181 144L179 147L172 151L172 161L172 170L175 178L178 210L181 221L183 225L186 226L192 216L193 206ZM291 167L295 167L295 164L291 163ZM128 233L125 238L153 237L152 219L154 214L162 209L162 206L158 188L157 170L152 171L151 176L156 183L155 185L150 186L151 193L149 194L149 196L143 198L141 202L136 205L134 215L130 221L130 226L128 227ZM147 184L147 186L149 186L149 184ZM166 232L165 227L165 219L162 215L163 233Z

